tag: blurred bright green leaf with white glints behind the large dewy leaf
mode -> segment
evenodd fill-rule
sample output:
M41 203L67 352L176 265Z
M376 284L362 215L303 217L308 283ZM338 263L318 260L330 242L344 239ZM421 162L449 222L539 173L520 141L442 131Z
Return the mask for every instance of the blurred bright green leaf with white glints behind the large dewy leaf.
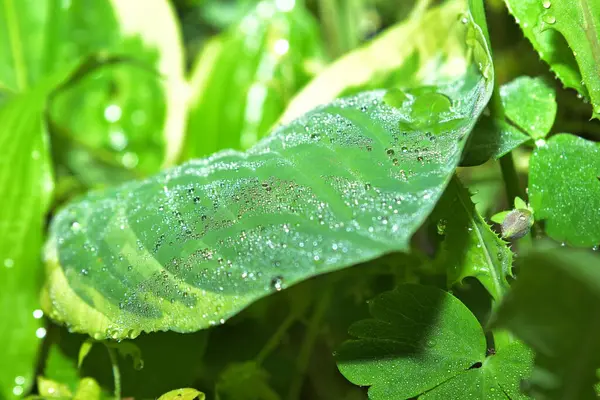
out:
M208 42L191 76L184 158L254 145L312 77L321 50L302 4L274 0Z

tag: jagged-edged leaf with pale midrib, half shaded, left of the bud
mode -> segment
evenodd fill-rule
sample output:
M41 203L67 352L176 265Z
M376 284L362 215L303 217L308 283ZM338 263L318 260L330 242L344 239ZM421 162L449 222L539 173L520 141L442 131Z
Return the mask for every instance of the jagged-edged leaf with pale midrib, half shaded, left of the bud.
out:
M458 178L448 185L433 218L444 236L436 263L445 268L448 285L474 277L499 301L510 287L512 252L479 215Z

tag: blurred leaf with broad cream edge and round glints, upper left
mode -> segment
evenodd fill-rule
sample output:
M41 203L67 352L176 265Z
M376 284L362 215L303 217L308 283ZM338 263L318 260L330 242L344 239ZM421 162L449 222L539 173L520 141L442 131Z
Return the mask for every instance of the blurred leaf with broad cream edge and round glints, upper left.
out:
M96 52L131 60L93 71L52 102L56 161L89 186L156 173L173 164L182 144L185 82L177 21L166 0L146 1L144 18L139 13L128 0L72 2L47 16L52 25L41 35L53 44L43 49L48 65Z

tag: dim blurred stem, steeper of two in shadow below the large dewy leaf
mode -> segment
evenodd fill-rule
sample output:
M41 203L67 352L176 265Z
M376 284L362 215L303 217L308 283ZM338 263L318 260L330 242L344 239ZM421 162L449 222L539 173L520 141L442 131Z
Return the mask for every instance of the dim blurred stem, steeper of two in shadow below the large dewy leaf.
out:
M327 282L326 282L327 283ZM331 282L329 282L331 284ZM315 341L319 336L319 328L321 327L321 320L325 315L325 311L329 307L331 302L331 286L329 285L324 289L324 293L319 299L319 303L316 305L315 311L310 319L308 325L308 331L304 337L304 342L300 347L300 354L298 355L297 371L294 376L294 380L290 384L290 390L288 392L288 400L297 400L300 398L300 392L302 390L302 384L304 383L304 377L310 362L310 356L315 345Z

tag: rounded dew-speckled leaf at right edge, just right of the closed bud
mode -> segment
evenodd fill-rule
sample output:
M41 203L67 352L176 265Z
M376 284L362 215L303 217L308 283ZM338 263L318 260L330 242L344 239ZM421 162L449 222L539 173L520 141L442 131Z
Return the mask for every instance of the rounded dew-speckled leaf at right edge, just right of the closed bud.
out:
M529 200L552 239L573 246L600 243L600 146L560 134L530 160Z

